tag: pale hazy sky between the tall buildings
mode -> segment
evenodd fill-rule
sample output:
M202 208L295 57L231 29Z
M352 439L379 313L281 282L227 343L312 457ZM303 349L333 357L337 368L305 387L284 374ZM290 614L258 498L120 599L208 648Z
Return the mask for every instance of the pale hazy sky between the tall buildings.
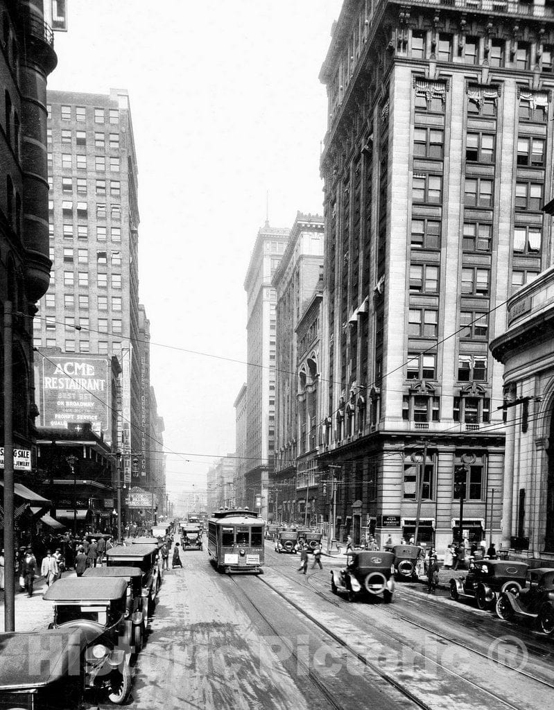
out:
M68 5L48 87L129 90L140 297L168 488L204 487L213 459L235 448L233 402L246 381L244 275L266 192L271 226L292 226L297 209L322 213L327 107L317 76L342 0Z

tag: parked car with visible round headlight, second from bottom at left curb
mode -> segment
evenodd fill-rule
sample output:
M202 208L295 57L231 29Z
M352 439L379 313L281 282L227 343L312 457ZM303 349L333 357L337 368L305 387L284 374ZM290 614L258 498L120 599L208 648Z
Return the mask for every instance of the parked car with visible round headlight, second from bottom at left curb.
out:
M123 704L131 691L131 648L126 637L127 583L124 579L58 579L43 596L52 601L50 628L80 634L85 689L105 692Z

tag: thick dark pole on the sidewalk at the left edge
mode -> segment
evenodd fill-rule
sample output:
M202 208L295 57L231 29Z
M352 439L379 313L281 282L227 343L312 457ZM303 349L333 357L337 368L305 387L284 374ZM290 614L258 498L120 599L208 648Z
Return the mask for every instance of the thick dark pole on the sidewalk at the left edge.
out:
M4 630L16 630L13 535L13 347L11 301L4 301Z

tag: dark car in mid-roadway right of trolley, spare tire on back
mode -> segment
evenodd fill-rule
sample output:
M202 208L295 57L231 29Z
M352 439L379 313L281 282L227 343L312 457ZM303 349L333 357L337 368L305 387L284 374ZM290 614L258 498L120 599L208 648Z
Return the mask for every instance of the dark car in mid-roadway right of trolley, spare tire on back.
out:
M394 555L392 552L352 552L347 555L346 567L331 570L333 594L347 594L348 601L358 596L383 595L383 601L392 601L394 591Z

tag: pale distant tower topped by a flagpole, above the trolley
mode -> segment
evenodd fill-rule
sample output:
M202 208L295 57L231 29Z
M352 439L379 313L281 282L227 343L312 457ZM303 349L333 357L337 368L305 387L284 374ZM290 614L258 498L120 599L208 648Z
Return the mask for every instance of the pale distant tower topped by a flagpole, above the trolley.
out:
M247 294L246 471L244 504L268 516L268 480L275 448L276 293L271 285L288 229L259 229L244 279ZM256 496L259 496L256 498Z

